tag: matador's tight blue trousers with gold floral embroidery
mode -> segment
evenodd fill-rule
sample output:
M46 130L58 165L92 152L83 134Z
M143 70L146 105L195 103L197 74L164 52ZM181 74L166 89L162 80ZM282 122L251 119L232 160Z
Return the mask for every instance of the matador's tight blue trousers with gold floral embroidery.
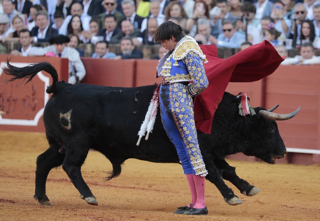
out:
M187 86L172 83L160 86L160 112L164 129L177 149L184 174L206 176L199 149L193 101Z

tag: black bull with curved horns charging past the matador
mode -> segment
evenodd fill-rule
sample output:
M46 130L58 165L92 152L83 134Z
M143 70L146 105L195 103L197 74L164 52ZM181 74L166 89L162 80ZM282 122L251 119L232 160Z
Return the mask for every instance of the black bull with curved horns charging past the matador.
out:
M17 68L9 63L6 74L29 81L41 70L48 72L53 83L47 88L53 93L44 109L44 125L50 147L37 157L36 190L34 198L41 205L50 205L45 194L48 173L62 165L72 183L87 203L97 205L96 198L81 176L81 166L89 149L104 154L112 163L113 171L107 180L121 173L121 164L129 158L161 163L179 163L175 147L167 137L158 112L149 140L136 146L137 133L144 120L156 85L136 88L103 87L89 84L58 82L54 67L43 62ZM260 189L236 175L235 168L225 156L239 152L255 156L267 163L275 163L287 153L275 120L295 116L275 114L262 107L254 108L256 115L239 115L239 100L224 93L212 122L212 131L198 131L198 140L208 175L206 179L219 189L230 205L242 203L223 179L230 181L242 194L253 196ZM59 152L65 151L63 154Z

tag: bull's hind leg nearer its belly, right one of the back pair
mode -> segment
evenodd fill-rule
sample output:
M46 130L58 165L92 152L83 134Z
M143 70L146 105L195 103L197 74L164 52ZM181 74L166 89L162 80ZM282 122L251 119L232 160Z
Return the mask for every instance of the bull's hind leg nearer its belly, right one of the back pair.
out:
M71 182L81 194L81 198L90 205L98 205L96 198L91 193L88 185L84 182L81 175L81 166L87 157L88 151L88 148L73 149L67 147L66 157L62 163L62 169L67 173Z

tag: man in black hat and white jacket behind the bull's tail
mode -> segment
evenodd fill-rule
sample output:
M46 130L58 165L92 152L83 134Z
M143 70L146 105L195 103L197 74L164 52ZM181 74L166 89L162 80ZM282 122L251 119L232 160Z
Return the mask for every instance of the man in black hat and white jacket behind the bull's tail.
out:
M66 46L66 43L70 41L69 37L64 35L57 35L49 39L49 45L45 48L32 47L29 51L29 56L42 56L54 54L57 57L69 59L69 78L68 83L75 84L79 83L85 76L84 65L80 59L79 52ZM48 53L50 52L50 53Z

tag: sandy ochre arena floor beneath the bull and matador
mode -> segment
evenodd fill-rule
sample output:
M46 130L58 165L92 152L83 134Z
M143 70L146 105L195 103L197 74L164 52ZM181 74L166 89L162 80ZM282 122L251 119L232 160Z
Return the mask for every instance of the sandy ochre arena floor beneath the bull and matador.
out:
M189 203L189 190L178 164L157 164L130 159L120 177L103 181L110 162L90 151L82 167L84 180L99 202L91 206L62 168L47 180L52 206L33 199L36 157L47 147L44 133L0 131L1 220L320 220L320 165L269 165L263 162L228 162L239 177L262 191L242 195L226 182L243 204L230 206L217 188L206 181L208 216L176 215L177 206Z

